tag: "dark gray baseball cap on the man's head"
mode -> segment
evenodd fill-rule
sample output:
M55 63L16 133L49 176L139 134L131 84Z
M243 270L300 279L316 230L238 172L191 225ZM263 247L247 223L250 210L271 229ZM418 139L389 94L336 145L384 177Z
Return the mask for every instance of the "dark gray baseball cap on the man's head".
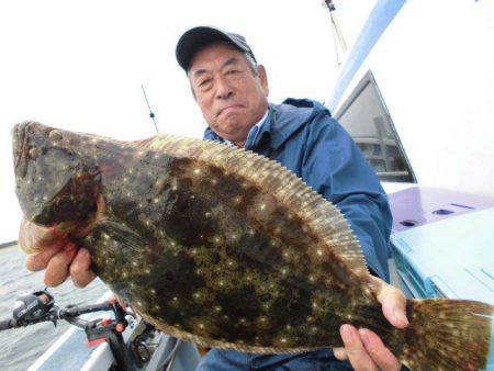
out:
M202 46L216 41L229 43L240 52L247 52L254 60L256 60L256 57L254 56L254 53L244 36L212 26L198 26L187 31L178 41L175 52L178 64L186 71L188 71L190 61L194 54Z

